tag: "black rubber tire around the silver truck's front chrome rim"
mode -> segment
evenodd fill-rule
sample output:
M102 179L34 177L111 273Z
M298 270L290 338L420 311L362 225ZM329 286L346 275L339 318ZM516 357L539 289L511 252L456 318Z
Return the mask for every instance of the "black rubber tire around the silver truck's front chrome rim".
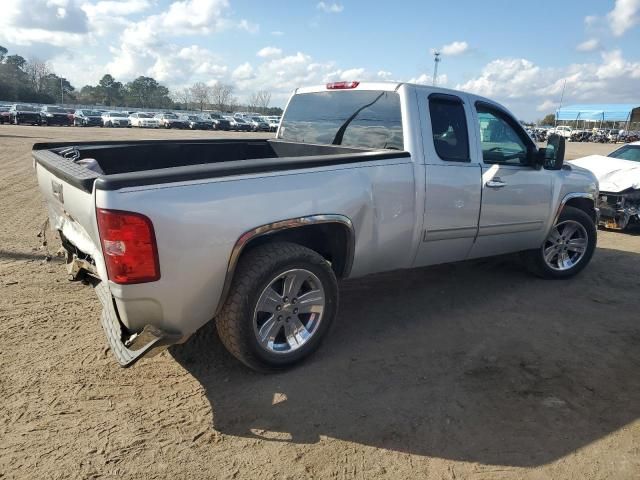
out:
M593 253L596 249L596 243L598 239L598 232L593 219L585 213L583 210L575 207L564 207L560 216L558 217L558 224L567 220L573 220L580 223L587 232L587 247L584 256L571 268L567 270L554 270L544 260L543 245L540 248L534 250L528 250L522 252L522 257L525 265L531 273L541 278L547 278L552 280L561 280L565 278L573 277L580 273L591 261ZM546 239L545 239L546 242Z

